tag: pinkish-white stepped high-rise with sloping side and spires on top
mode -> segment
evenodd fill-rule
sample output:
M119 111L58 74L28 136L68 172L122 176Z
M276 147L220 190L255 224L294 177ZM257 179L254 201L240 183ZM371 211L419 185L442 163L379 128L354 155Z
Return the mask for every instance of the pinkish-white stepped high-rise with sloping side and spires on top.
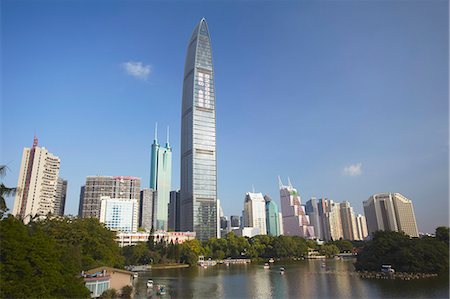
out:
M297 189L292 187L290 182L289 186L284 186L281 179L279 186L284 235L314 238L314 226L309 222L309 216L306 215L305 206L301 204Z

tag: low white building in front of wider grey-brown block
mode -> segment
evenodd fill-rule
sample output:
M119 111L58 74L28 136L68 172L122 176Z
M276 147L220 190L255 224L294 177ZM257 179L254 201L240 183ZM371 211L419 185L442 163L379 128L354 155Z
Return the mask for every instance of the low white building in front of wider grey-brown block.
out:
M136 198L100 198L100 222L110 230L136 232L138 228L138 200Z

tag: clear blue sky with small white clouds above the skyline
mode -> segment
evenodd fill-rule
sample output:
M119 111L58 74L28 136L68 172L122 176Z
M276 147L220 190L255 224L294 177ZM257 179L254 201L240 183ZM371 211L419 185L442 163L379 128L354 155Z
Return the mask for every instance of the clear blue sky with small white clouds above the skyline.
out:
M61 158L66 213L88 175L148 187L158 122L170 126L178 188L184 59L205 17L226 215L252 185L278 202L280 175L303 202L348 200L359 213L370 195L400 192L433 232L449 221L448 11L439 0L4 0L5 182L17 184L36 132Z

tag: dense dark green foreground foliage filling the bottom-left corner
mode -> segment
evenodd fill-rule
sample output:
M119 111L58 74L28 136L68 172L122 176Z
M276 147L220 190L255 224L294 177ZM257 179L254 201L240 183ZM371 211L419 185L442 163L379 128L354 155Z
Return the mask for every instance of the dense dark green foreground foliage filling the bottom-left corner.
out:
M1 298L89 298L70 255L39 224L0 221Z

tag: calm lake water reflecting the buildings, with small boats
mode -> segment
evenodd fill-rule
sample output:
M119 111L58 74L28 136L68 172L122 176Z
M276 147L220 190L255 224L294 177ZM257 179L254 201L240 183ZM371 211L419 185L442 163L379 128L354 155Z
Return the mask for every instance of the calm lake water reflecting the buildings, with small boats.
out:
M203 269L139 273L137 298L449 298L448 277L427 280L367 280L353 272L352 260L319 260L262 265L217 265ZM284 275L279 272L285 267ZM167 294L148 292L146 282L166 285Z

